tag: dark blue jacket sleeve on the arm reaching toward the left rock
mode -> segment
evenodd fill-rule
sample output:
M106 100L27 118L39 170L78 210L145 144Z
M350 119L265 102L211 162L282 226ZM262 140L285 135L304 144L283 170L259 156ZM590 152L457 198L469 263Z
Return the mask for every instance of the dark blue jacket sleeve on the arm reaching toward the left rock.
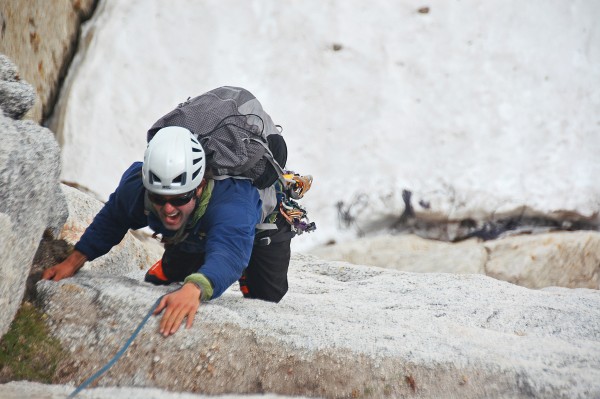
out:
M141 165L141 162L136 162L127 169L115 192L75 245L75 249L82 252L88 260L108 253L121 242L129 229L147 225Z

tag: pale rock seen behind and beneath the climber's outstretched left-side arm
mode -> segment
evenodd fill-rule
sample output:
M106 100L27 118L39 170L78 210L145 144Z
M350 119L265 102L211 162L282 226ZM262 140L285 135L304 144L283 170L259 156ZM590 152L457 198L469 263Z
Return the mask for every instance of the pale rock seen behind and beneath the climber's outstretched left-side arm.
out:
M69 217L58 238L75 245L103 203L73 187L61 184L61 188L67 198ZM162 257L162 252L163 248L157 241L141 241L127 233L108 254L87 262L83 269L117 275L145 270Z

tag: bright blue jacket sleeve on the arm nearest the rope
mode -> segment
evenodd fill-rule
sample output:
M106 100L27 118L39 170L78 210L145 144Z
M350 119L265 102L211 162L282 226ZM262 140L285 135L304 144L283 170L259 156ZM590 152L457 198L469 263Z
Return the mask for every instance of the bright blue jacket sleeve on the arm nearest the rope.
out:
M204 215L206 253L198 271L212 283L213 299L237 281L248 266L261 216L258 190L249 181L227 179L217 184Z

